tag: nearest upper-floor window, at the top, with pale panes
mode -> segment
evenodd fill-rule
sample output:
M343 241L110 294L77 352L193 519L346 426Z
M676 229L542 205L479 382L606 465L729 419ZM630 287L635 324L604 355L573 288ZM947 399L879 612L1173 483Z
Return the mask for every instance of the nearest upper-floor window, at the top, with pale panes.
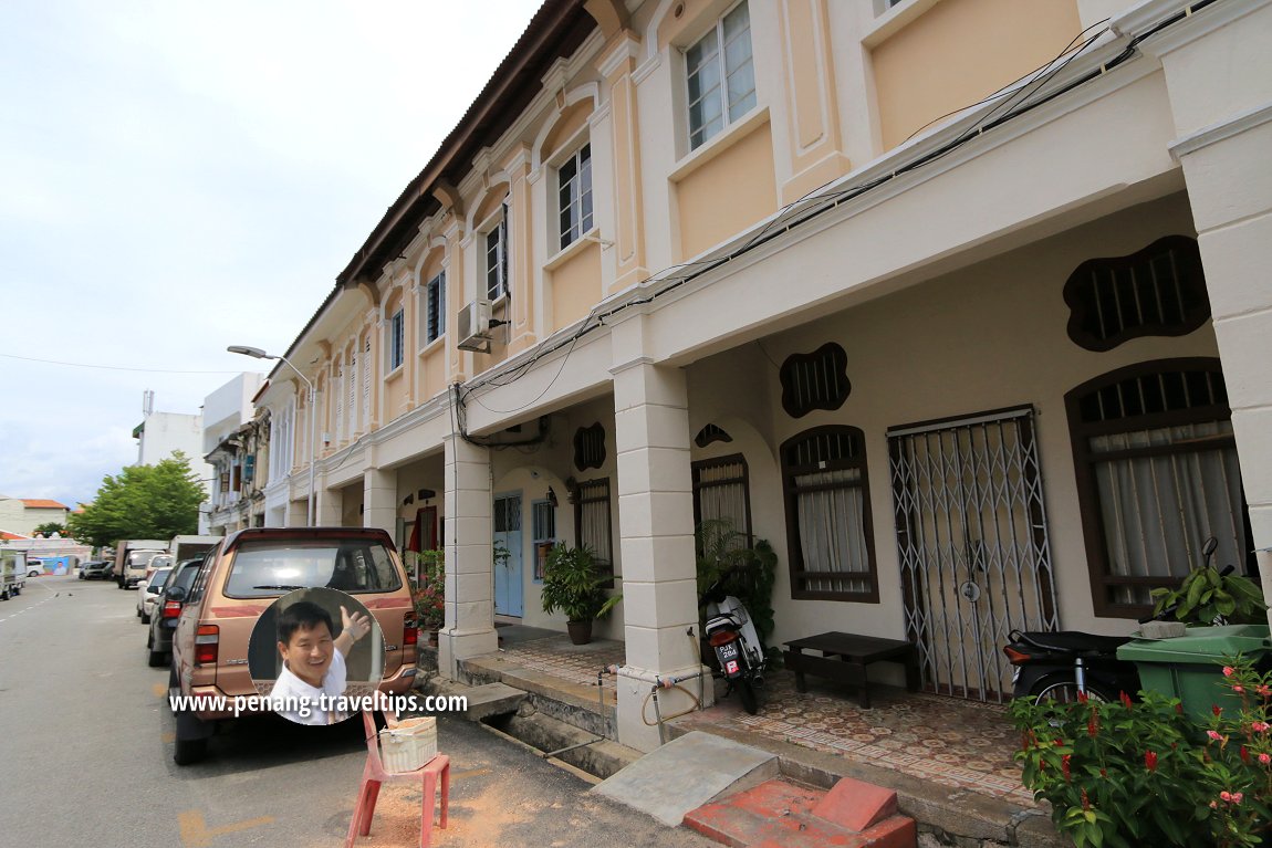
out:
M756 106L747 4L726 14L684 53L689 104L689 149L724 130Z

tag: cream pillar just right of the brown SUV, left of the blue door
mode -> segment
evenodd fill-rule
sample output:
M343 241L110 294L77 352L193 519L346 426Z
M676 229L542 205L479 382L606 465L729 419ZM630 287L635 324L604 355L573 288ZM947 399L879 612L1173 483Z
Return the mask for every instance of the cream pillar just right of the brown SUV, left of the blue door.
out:
M438 669L454 680L457 662L499 650L491 557L490 449L462 436L445 440L446 622L438 633Z

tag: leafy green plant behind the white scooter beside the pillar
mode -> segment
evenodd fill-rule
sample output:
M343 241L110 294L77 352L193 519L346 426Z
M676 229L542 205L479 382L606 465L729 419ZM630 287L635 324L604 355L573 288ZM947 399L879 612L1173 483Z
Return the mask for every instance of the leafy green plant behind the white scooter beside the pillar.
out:
M773 634L773 584L777 553L764 539L750 540L726 519L709 519L695 530L698 598L722 576L726 595L745 605L761 642ZM703 610L700 608L698 615Z

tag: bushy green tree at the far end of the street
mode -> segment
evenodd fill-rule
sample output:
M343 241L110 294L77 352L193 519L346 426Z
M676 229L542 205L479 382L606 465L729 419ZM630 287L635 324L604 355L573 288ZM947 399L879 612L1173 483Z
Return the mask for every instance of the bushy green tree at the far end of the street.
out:
M70 516L67 530L94 547L121 539L170 539L197 533L204 498L198 475L178 450L158 465L130 465L107 474L93 503Z

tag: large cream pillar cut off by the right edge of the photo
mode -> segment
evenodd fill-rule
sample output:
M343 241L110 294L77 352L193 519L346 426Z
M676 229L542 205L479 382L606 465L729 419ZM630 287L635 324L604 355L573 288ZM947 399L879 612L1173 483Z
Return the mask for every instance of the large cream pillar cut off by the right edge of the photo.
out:
M1269 0L1215 4L1144 42L1166 76L1175 121L1170 151L1183 165L1254 547L1264 551L1272 548L1269 43ZM1259 571L1272 599L1272 557L1266 552Z

